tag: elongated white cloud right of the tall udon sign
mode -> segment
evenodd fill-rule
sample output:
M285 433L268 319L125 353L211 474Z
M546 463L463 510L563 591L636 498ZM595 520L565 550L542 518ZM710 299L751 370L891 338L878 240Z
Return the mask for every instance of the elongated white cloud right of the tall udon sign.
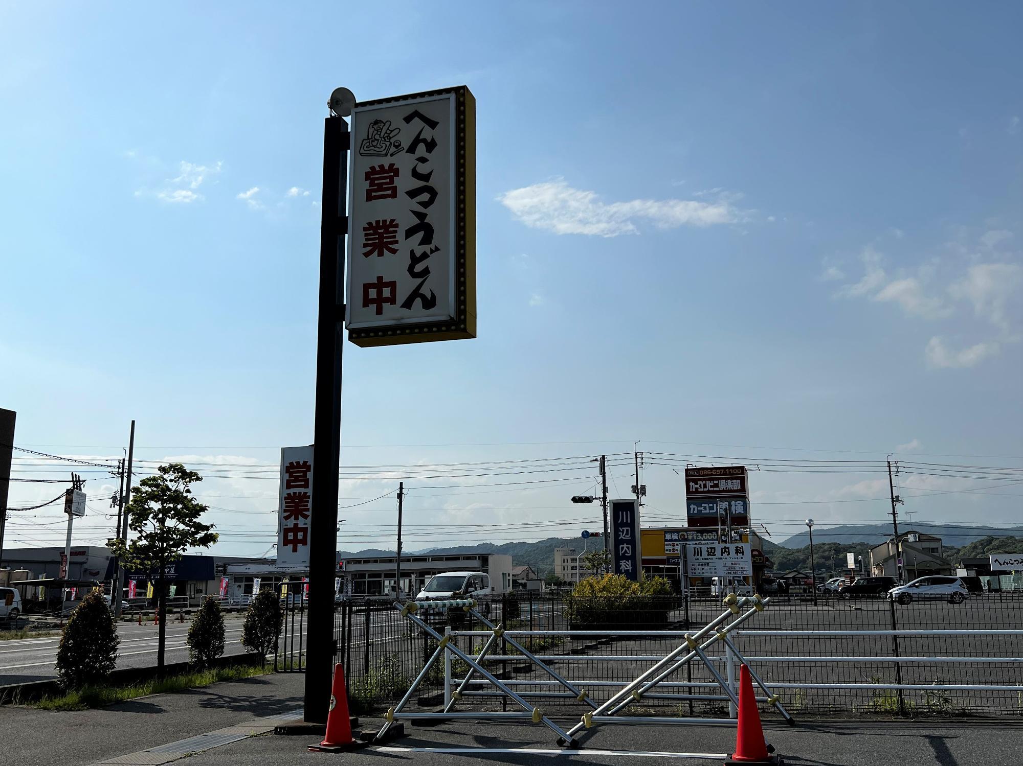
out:
M715 202L684 199L602 202L594 192L575 189L562 179L513 189L497 199L526 226L554 234L617 237L638 234L636 222L639 220L647 220L659 229L674 229L730 224L742 218L725 199Z

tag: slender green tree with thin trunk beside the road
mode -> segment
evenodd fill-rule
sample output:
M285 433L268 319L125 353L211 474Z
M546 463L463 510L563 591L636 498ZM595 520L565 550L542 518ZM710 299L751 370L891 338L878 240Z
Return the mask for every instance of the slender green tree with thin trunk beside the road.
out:
M147 476L132 491L128 528L135 539L107 540L106 544L122 564L145 572L157 581L160 641L157 644L157 674L164 674L167 642L167 568L190 547L210 547L217 541L212 524L199 521L209 509L192 497L191 485L203 477L180 463L161 466L155 476Z

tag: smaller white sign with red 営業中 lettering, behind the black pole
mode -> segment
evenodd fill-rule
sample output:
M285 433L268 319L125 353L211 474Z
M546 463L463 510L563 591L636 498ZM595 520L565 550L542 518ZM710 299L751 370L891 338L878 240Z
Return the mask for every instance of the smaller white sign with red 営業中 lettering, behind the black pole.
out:
M313 447L280 450L280 502L277 516L277 571L309 570L312 516Z

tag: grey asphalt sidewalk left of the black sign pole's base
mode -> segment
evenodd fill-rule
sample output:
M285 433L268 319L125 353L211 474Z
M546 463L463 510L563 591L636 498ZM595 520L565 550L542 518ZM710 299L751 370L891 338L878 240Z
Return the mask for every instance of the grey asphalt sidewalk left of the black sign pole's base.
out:
M299 710L304 685L302 673L278 673L153 695L100 710L51 713L4 706L3 752L16 766L87 766Z

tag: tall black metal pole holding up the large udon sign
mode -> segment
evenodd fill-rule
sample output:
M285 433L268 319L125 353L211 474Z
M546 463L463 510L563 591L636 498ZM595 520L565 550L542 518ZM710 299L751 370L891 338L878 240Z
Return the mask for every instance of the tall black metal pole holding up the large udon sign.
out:
M316 422L309 529L309 633L306 721L325 723L330 707L333 578L338 556L341 462L341 351L345 327L345 237L348 233L348 123L329 116L323 132L319 315L316 323Z

